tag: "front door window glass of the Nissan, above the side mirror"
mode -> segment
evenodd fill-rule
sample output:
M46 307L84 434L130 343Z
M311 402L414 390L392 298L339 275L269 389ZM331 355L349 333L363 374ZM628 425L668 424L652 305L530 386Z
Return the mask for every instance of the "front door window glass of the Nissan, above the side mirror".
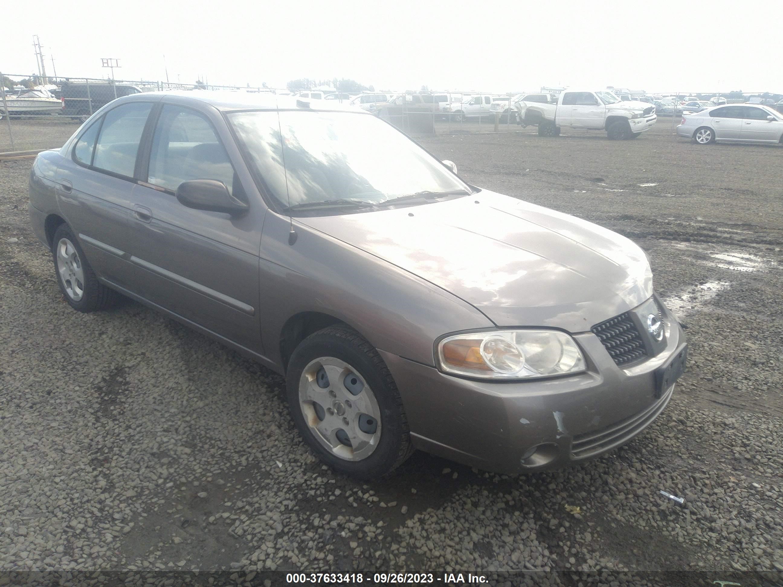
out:
M234 168L206 118L167 104L153 135L147 181L175 192L190 179L215 179L233 193Z

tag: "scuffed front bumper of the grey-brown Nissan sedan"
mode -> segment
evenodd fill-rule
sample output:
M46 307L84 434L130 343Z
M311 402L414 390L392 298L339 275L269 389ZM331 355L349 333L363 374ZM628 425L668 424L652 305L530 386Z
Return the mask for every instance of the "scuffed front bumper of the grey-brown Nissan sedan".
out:
M547 380L466 380L380 352L417 448L498 473L550 470L630 441L666 407L673 387L656 397L655 369L682 351L685 337L663 312L666 347L658 355L621 368L593 333L581 333L574 338L587 371Z

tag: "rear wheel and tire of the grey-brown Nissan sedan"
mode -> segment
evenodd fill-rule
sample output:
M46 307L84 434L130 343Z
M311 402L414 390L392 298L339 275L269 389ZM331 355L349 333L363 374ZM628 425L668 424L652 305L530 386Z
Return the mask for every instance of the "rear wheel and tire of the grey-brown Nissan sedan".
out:
M98 281L67 224L61 224L52 238L52 261L60 291L77 312L96 312L116 304L120 294Z

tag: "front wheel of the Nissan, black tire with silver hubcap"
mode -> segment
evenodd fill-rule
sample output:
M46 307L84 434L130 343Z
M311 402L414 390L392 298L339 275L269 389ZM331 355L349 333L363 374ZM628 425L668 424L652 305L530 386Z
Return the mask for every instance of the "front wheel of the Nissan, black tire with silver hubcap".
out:
M286 393L305 443L340 473L382 477L413 453L388 367L348 326L329 326L302 340L288 363Z

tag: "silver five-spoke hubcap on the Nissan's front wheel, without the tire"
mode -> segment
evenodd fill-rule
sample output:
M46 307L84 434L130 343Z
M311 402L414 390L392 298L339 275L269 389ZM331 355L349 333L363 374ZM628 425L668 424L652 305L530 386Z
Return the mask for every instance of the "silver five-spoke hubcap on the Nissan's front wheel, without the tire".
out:
M345 361L319 357L299 378L299 408L323 448L346 461L360 461L381 441L381 409L370 385Z

